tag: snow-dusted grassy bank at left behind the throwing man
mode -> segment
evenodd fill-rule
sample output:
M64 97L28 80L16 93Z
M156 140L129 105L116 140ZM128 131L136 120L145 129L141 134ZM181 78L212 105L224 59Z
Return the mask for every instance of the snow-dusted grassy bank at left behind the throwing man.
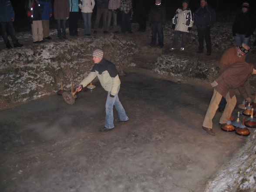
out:
M0 52L0 108L76 86L91 71L91 54L104 50L117 67L126 64L137 46L118 37L76 38L4 49ZM124 54L125 53L125 54Z

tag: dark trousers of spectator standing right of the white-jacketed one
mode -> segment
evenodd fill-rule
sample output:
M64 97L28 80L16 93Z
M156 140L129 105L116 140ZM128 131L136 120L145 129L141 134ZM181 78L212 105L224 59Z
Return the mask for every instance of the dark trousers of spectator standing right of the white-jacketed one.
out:
M204 40L205 40L207 53L212 53L212 42L211 42L210 33L211 33L210 27L206 27L205 29L197 29L199 51L203 51Z

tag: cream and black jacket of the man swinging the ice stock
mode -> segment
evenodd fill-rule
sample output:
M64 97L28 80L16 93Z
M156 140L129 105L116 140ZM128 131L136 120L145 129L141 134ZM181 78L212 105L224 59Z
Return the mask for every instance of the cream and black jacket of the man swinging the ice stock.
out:
M104 57L98 64L94 64L91 73L81 81L81 87L88 85L95 77L98 77L105 91L110 91L110 96L115 96L118 93L118 86L121 81L118 77L117 69L114 64Z

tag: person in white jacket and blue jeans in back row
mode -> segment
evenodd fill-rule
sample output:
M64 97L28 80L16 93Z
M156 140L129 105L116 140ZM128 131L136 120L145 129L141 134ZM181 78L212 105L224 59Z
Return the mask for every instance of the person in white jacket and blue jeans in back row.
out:
M94 5L94 0L81 0L81 4L79 4L84 20L84 33L86 36L91 36L91 15Z

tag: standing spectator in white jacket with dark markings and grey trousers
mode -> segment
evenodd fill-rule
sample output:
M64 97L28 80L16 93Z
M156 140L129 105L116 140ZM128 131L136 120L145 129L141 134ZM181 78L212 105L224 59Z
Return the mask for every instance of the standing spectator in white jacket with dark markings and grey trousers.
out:
M194 23L194 15L190 8L188 8L189 1L190 0L183 0L182 8L178 8L176 10L175 16L172 18L174 37L172 42L172 48L170 49L170 51L174 51L176 49L180 34L182 34L180 51L184 51L185 49L187 34L191 30L191 27Z

